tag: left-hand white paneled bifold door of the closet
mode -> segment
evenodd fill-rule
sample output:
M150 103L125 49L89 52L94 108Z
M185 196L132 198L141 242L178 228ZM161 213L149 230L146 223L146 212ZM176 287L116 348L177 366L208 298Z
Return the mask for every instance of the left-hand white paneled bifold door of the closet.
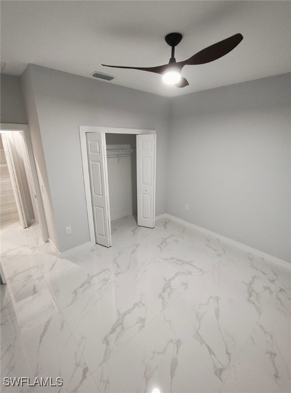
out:
M86 133L95 241L111 246L111 225L104 133Z

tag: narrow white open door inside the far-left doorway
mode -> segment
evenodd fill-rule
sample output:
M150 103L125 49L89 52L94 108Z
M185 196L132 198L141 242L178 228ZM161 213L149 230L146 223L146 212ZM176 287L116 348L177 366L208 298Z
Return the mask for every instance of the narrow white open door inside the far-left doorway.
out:
M24 203L21 198L21 178L17 178L17 162L13 159L13 143L11 143L10 138L6 134L2 134L2 142L5 152L5 157L7 161L9 176L12 184L13 194L16 202L16 207L18 211L19 221L23 228L27 228L27 220L25 215Z

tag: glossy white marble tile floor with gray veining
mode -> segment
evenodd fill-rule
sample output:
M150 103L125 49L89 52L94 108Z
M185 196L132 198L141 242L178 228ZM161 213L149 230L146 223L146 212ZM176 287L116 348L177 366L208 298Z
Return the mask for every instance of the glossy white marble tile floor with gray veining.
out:
M38 225L1 227L1 391L291 392L291 270L167 219L112 242L59 259Z

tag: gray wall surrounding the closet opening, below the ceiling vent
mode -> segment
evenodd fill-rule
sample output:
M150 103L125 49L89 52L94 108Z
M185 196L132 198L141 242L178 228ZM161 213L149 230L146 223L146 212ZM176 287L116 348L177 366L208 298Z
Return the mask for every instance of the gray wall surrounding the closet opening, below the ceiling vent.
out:
M30 78L59 251L89 241L79 125L157 130L156 214L165 212L168 98L32 64L23 84Z

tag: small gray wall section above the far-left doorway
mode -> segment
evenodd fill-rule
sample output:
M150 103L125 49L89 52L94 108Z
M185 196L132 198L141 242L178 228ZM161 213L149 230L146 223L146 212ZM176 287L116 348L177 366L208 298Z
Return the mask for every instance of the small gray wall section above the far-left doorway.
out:
M18 76L1 74L1 123L27 124L25 103Z

